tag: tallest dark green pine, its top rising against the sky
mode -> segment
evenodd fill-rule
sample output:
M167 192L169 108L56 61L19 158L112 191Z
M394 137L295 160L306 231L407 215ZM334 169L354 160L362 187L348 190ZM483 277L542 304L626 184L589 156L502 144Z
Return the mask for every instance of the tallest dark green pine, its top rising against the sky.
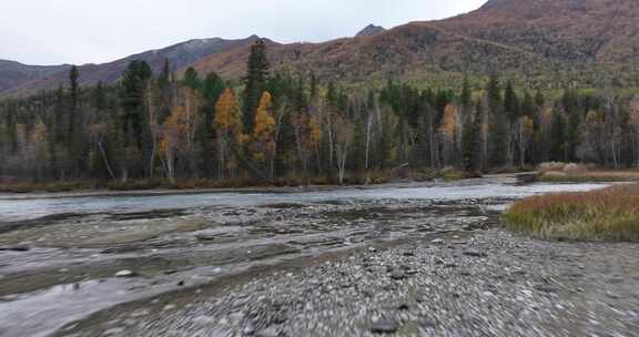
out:
M253 132L253 123L255 121L255 110L260 104L260 99L266 90L268 81L268 60L266 58L266 42L260 39L251 47L251 54L248 55L247 73L244 78L244 105L242 112L242 122L244 132L251 134Z

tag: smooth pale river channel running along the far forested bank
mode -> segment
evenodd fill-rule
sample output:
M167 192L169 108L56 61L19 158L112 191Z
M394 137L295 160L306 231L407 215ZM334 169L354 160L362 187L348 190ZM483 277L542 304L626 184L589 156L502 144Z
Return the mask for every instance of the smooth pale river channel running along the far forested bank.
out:
M576 192L601 187L601 184L528 184L513 178L481 178L456 183L423 183L337 188L287 193L210 193L159 196L87 196L37 200L12 200L0 194L0 222L24 221L63 213L136 212L145 210L197 208L210 206L255 206L272 203L304 203L345 200L464 200L521 198L539 193Z

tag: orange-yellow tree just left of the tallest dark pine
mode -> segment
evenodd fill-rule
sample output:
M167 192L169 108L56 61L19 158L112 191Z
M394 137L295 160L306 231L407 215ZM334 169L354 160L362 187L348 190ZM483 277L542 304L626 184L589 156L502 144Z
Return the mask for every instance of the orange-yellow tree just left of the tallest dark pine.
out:
M226 170L231 175L236 173L237 160L232 153L232 147L243 140L240 109L231 89L226 89L215 104L213 125L217 133L219 176L224 178Z

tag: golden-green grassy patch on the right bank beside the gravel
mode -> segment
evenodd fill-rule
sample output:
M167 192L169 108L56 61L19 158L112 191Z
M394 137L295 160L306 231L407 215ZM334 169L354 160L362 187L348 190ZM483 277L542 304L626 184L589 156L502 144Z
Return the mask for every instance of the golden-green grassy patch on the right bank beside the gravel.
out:
M528 197L505 218L540 238L639 242L639 184Z

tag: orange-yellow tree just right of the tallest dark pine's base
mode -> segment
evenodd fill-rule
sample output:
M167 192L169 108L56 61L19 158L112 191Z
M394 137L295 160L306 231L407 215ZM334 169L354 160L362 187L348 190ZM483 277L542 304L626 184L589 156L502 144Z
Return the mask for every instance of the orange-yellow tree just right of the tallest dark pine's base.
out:
M265 91L260 100L257 112L255 113L255 126L253 129L253 157L262 165L266 165L268 178L274 176L274 162L276 151L275 119L271 113L271 93Z

